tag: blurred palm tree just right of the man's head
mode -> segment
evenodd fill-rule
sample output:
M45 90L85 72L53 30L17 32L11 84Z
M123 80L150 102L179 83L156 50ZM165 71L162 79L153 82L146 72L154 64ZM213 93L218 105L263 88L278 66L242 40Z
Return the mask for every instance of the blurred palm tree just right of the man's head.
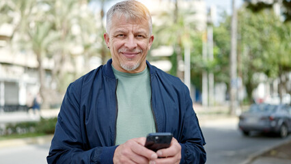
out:
M162 21L160 26L155 26L156 42L162 45L174 46L174 54L171 56L171 74L180 79L183 78L182 72L178 69L178 62L183 60L183 50L185 47L193 45L193 38L197 35L195 23L185 20L186 17L195 14L191 10L180 10L178 0L175 1L174 12L171 10L162 12L158 16ZM172 20L172 21L169 21Z

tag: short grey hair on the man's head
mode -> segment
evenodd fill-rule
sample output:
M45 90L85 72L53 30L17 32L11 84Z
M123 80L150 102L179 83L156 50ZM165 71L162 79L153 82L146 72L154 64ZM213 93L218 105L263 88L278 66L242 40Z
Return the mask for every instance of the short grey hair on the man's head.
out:
M146 6L143 5L143 3L140 3L139 1L127 0L121 1L113 5L106 15L107 33L110 32L113 16L118 16L118 18L124 16L126 20L134 21L148 20L150 28L149 35L152 35L152 16L150 16L148 8L146 8Z

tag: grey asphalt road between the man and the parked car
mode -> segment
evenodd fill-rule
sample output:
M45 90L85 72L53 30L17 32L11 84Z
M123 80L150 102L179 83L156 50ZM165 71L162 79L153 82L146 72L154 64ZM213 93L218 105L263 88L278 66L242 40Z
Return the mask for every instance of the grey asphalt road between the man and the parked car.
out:
M206 164L239 164L252 154L278 145L286 139L253 133L250 137L238 131L236 118L210 120L201 124L206 139Z

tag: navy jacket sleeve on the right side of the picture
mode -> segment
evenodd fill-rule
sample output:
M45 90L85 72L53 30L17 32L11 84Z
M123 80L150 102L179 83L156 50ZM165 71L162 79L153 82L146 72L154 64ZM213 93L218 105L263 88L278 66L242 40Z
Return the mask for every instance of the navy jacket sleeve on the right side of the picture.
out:
M206 142L199 126L196 113L193 110L193 103L187 87L185 91L184 102L186 112L183 119L184 128L182 129L182 136L179 141L182 148L180 163L206 163L206 152L204 150Z

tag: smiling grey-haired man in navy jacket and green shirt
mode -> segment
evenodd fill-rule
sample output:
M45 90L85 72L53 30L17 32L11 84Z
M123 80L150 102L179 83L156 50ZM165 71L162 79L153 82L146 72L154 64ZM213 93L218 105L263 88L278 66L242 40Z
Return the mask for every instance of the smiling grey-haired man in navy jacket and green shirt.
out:
M146 61L154 40L148 9L116 3L104 38L112 59L68 86L48 163L205 163L188 88ZM155 132L173 133L169 148L144 147Z

